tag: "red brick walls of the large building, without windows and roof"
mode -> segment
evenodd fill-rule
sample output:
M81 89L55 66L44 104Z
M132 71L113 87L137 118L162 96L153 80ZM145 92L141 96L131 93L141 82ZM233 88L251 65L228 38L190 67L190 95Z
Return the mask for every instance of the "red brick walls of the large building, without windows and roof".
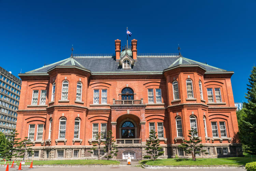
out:
M120 51L116 50L116 53ZM134 50L133 53L135 53ZM135 54L137 54L137 49ZM71 58L76 59L73 56ZM136 60L137 58L139 62L140 56L136 56ZM113 136L117 139L119 152L116 159L122 159L123 152L127 150L134 151L136 158L140 159L145 155L144 148L149 136L149 123L155 123L156 132L158 132L157 124L162 123L163 137L160 138L160 144L164 147L164 156L174 157L177 154L177 146L183 142L183 139L188 140L190 117L193 116L196 118L198 135L202 143L205 147L211 148L208 156L216 156L215 147L224 146L228 147L229 156L240 155L242 152L239 150L241 147L239 140L236 139L238 123L231 75L232 72L205 72L205 69L199 65L180 65L164 70L161 74L95 74L76 66L53 67L46 74L41 75L19 74L22 87L16 129L19 138L24 138L29 135L29 125L35 125L32 148L41 150L39 159L58 158L57 149L64 150L64 158L73 158L76 149L79 150L78 158L93 158L93 155L88 153L93 141L93 124L97 123L98 132L101 132L101 124L106 123L107 130L112 130ZM193 98L188 98L187 95L186 81L188 79L192 82ZM62 84L65 81L68 82L68 98L62 100ZM173 81L177 81L179 88L179 99L175 100ZM76 99L78 82L82 84L80 101ZM202 84L202 99L199 82ZM55 84L54 100L52 100L53 84ZM133 104L120 104L120 102L125 103L121 101L124 88L132 89ZM214 100L212 103L208 100L207 88L212 88ZM216 100L215 91L217 90L215 88L221 92L221 102ZM99 104L94 103L95 89L99 90ZM148 89L153 89L154 103L149 103ZM156 89L161 89L160 100L156 97ZM31 105L33 90L39 90L37 105ZM47 91L45 105L40 105L41 90ZM102 104L102 90L107 92L105 104ZM156 103L157 100L161 103ZM182 121L183 135L180 137L177 135L177 117L180 117ZM59 137L61 118L66 120L64 138ZM74 138L75 119L80 121L79 138ZM121 133L122 124L125 121L134 124L134 141L127 140L126 143ZM212 122L217 123L218 137L213 137ZM226 130L221 132L220 124L224 123ZM43 138L40 140L37 139L38 124L43 124ZM49 136L50 124L52 131ZM225 137L221 137L224 135L223 131L226 131Z

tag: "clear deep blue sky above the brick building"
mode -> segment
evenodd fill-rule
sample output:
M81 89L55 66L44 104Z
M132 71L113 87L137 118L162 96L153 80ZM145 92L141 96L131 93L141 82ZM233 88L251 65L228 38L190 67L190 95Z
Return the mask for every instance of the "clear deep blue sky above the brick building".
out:
M177 53L234 71L235 102L256 63L256 1L3 1L0 66L17 76L74 53L114 53L126 27L138 53Z

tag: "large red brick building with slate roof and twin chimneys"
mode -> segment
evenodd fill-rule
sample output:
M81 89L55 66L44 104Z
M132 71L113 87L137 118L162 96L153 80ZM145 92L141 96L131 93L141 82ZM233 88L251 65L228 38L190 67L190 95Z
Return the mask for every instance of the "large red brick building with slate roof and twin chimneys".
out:
M180 54L137 54L137 40L121 49L117 39L115 54L19 74L19 138L32 140L34 159L93 158L95 134L112 130L116 158L140 159L153 129L167 158L187 155L178 146L194 127L208 156L241 155L232 74Z

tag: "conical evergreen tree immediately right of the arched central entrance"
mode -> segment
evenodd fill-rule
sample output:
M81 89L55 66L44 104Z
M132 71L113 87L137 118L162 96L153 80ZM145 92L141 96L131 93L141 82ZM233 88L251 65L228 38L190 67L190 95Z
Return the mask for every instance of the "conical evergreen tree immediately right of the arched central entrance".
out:
M163 155L162 147L159 147L159 139L157 138L156 132L154 130L150 131L149 141L146 142L146 148L148 154L147 156L144 156L143 158L151 158L153 157L153 160L155 161L157 157Z

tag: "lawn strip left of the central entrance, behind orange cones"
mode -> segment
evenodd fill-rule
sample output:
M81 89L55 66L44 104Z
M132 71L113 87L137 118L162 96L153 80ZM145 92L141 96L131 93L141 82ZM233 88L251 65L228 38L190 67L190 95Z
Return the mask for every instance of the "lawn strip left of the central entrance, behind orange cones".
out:
M11 164L12 162L9 161ZM15 161L14 161L15 162ZM6 162L7 164L8 162ZM15 162L16 163L16 162ZM26 162L25 165L30 165ZM115 160L34 160L33 165L119 165ZM18 163L16 164L18 166Z

